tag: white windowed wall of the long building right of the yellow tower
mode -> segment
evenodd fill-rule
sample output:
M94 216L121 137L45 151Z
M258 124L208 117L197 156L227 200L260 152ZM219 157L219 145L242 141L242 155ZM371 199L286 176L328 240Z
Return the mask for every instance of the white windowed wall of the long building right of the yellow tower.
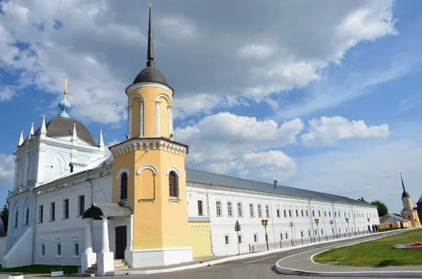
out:
M353 233L357 231L357 226L359 226L359 231L362 231L364 226L368 224L366 213L369 216L371 215L371 224L378 223L378 213L375 208L357 207L356 205L352 207L352 205L336 202L333 204L333 202L320 200L289 199L288 197L236 193L234 191L193 188L191 186L187 188L187 199L188 216L190 217L199 217L198 200L203 200L203 217L210 218L211 221L212 247L215 255L238 253L237 235L234 231L236 220L241 223L242 227L241 232L239 232L243 239L243 243L240 245L241 252L249 252L249 244L255 243L255 234L257 235L257 242L265 242L265 230L261 224L262 219L269 220L269 226L267 226L269 242L286 240L286 233L288 240L292 239L292 237L294 239L301 238L301 231L303 231L304 238L308 238L309 233L312 237L318 237L318 232L315 233L317 226L314 223L314 219L319 219L318 229L321 237L333 234L330 224L331 220L333 220L333 230L338 232L338 229L340 229L340 233L348 232L349 228L350 232ZM222 216L217 216L217 201L221 202ZM232 216L228 216L227 202L231 202ZM238 216L238 202L242 203L243 216ZM250 204L253 205L252 217L250 216ZM258 205L261 205L261 216L258 216ZM269 207L269 217L266 214L266 206ZM279 209L279 216L277 216L277 209ZM286 210L286 217L284 217L284 210ZM289 217L289 210L291 210L291 217ZM298 216L296 216L296 210L298 210ZM308 216L306 216L307 210ZM312 210L314 211L314 216L312 216ZM352 213L354 210L364 212L364 215L355 219ZM335 214L334 211L336 212ZM338 216L338 211L340 211L340 216ZM349 227L347 227L344 214L350 220ZM292 221L293 227L290 226L290 221ZM283 235L282 239L281 234ZM229 235L229 245L225 244L225 235Z

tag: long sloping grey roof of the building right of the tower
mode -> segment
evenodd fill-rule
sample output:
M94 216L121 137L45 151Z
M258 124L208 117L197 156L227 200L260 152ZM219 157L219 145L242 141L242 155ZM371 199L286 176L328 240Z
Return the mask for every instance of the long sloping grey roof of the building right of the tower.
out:
M245 190L263 191L267 193L295 195L298 197L312 197L319 200L329 200L332 202L346 202L356 205L370 205L366 202L360 202L358 200L351 199L350 197L331 195L327 193L320 193L312 190L305 190L287 186L278 186L278 188L274 188L274 184L272 183L264 183L247 179L238 179L232 176L212 174L210 172L197 171L194 169L186 169L186 181L193 183L212 184L215 186L241 188Z

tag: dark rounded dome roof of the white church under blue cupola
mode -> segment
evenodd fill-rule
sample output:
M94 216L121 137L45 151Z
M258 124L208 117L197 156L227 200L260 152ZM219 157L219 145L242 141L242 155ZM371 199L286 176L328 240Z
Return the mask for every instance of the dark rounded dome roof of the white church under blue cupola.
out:
M97 145L94 141L94 138L91 136L91 133L89 133L87 127L84 126L84 124L82 124L81 122L70 117L56 116L49 122L47 122L47 136L71 136L73 133L73 124L76 124L76 134L78 138L84 139L84 141L87 141L91 145ZM34 132L34 136L39 135L40 129L41 127L39 127L37 131Z

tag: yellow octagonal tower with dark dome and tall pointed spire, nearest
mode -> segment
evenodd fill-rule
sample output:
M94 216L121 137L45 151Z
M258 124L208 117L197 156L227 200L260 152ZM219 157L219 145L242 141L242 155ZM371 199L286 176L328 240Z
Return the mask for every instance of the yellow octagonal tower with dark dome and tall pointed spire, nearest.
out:
M124 252L134 268L192 260L184 165L188 146L173 141L174 92L154 67L151 4L147 59L126 89L127 140L110 147L112 202L134 212L132 231L127 233L132 247Z

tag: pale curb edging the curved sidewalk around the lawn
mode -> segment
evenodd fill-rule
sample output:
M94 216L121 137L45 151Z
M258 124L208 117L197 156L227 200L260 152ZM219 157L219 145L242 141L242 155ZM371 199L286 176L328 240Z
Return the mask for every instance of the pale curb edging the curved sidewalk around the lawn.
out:
M376 240L380 238L375 238L371 240ZM346 247L350 245L356 245L362 242L367 242L371 240L362 240L359 242L355 242L353 244L342 245L335 248ZM318 252L316 254L312 254L310 260L312 264L318 264L314 262L314 256L317 254L321 254L322 252L328 251L326 249L324 251ZM309 251L306 251L309 252ZM305 253L305 252L304 252ZM299 253L301 254L301 253ZM297 254L290 255L283 259L287 259L289 257L293 257ZM336 271L336 272L328 272L328 271L302 271L300 269L295 268L286 268L279 264L279 261L276 262L276 271L283 275L301 275L301 276L319 276L319 277L385 277L385 278L421 278L422 271Z

